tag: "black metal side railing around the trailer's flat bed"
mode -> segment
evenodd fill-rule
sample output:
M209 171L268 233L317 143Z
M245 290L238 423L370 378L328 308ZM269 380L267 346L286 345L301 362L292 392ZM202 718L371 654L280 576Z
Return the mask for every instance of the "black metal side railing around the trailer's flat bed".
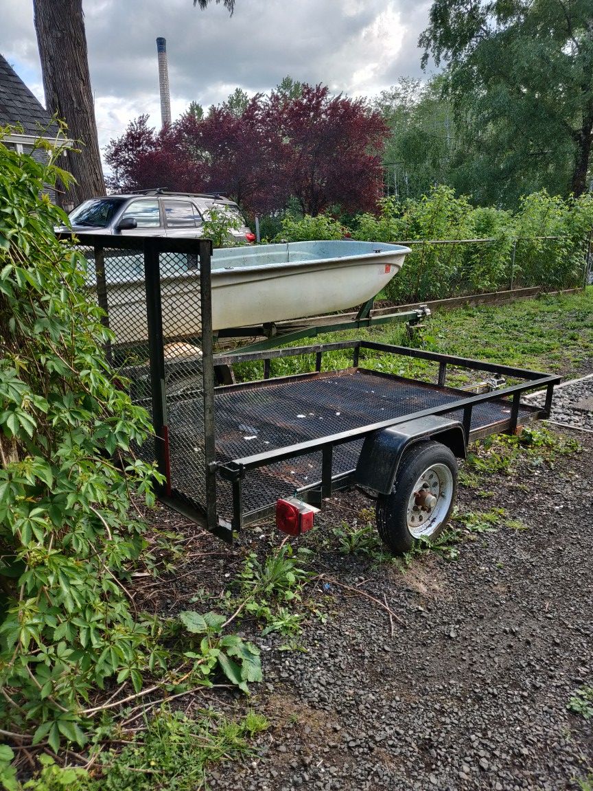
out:
M417 421L421 425L423 418L432 415L448 416L460 414L461 425L463 427L464 447L471 441L485 437L491 433L513 433L519 426L519 416L522 422L528 422L536 418L546 418L550 414L550 407L553 397L553 388L560 382L560 377L537 371L520 369L510 365L498 365L481 360L461 358L451 354L439 354L425 350L410 349L404 346L390 346L384 343L372 341L356 340L344 343L327 343L315 346L299 346L288 349L267 350L265 352L251 352L247 354L217 354L214 357L216 365L230 365L238 362L263 362L263 380L248 382L245 384L230 385L224 388L216 388L216 393L223 392L242 392L247 389L263 388L266 381L281 382L289 384L296 381L312 381L312 377L319 375L323 370L323 355L336 350L351 350L352 364L351 371L372 373L374 377L390 382L402 384L402 388L423 388L430 394L448 396L446 403L431 406L416 411L407 411L397 417L388 418L380 422L369 422L362 426L346 431L328 434L321 438L303 441L293 445L274 448L266 452L259 452L249 456L236 457L223 463L217 462L216 469L222 479L229 482L232 487L232 519L221 521L220 526L229 531L239 531L247 524L269 517L275 511L275 502L269 503L261 508L244 508L244 488L245 480L250 471L259 470L263 467L278 462L295 459L305 456L311 452L321 451L323 462L321 464L321 475L318 480L312 481L305 486L300 486L295 490L296 494L303 501L308 501L312 505L319 505L322 499L330 497L332 492L351 486L354 479L356 468L347 471L334 472L334 450L340 445L345 445L357 440L364 440L365 437L372 435L379 436L386 429L402 426L410 421ZM361 352L372 350L385 354L396 354L407 358L416 358L438 363L438 374L435 384L421 382L420 380L410 380L406 377L398 377L394 374L380 373L378 371L368 372L366 369L359 369ZM281 377L280 379L270 379L270 361L278 358L287 358L303 354L315 354L315 373L304 373L294 377ZM446 385L448 367L454 366L456 369L470 369L474 371L492 373L497 376L512 377L522 379L519 384L512 384L508 387L485 392L481 394L467 395L466 392L457 388L448 388ZM328 372L329 373L329 372ZM338 373L338 372L335 372ZM527 392L546 388L546 403L544 407L531 407L521 403L521 397ZM215 395L216 399L216 395ZM482 426L472 426L472 418L477 407L483 404L497 404L504 413L508 412L508 417L504 414L502 419ZM457 455L460 455L459 453ZM293 494L287 491L286 494Z

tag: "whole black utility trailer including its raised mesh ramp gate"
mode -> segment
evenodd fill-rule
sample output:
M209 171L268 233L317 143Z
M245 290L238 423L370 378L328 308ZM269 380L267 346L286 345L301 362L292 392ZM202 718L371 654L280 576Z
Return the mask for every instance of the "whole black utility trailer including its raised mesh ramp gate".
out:
M357 486L376 500L383 541L394 552L406 551L418 539L435 538L446 524L457 459L466 456L468 443L514 432L550 413L559 377L425 350L354 340L214 354L208 240L87 236L78 246L94 262L107 326L101 262L109 255L111 267L118 257L127 266L127 257L142 255L144 308L138 311L136 290L125 340L115 336L107 353L134 401L151 414L155 437L138 453L156 460L164 475L161 499L229 541L274 514L285 532L302 532L323 500ZM173 308L161 301L161 282L179 270L179 254L187 254L193 269L198 261L199 277L188 279L192 293ZM118 326L125 316L120 308ZM173 322L166 315L173 309L191 309L189 334L164 334L163 327L179 326L179 316ZM130 343L133 337L138 343ZM335 354L349 364L331 369ZM309 359L312 370L271 376L273 361L281 365L296 356ZM434 381L380 369L394 369L394 359L403 369L407 358L425 361ZM262 378L215 386L215 365L241 364L261 365ZM451 369L486 372L511 384L470 393L448 386ZM522 402L527 392L544 388L543 408Z

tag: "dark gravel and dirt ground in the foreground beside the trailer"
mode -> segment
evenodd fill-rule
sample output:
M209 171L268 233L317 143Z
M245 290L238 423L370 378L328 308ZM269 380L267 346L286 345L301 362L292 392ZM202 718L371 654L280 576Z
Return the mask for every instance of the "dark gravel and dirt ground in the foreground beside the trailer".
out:
M460 511L502 507L511 526L468 536L456 560L431 552L402 571L339 554L320 537L369 503L354 492L333 498L302 539L324 575L308 596L327 619L309 619L291 650L240 624L262 649L264 683L247 704L225 693L212 704L252 706L271 727L253 759L214 767L211 787L590 788L578 780L593 771L593 719L567 704L593 685L593 433L572 436L583 450L553 465L525 454L513 475L460 486ZM162 510L166 520L183 528ZM216 607L246 550L270 550L278 535L264 524L232 549L194 535L164 588L146 590L147 604Z

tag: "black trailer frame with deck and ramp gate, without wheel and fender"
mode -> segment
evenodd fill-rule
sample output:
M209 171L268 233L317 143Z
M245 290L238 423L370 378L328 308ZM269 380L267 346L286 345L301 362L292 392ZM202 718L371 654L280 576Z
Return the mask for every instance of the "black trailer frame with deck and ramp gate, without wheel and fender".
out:
M334 490L356 483L364 440L372 444L388 430L404 431L406 427L413 434L429 437L436 418L452 420L463 436L463 447L457 448L459 456L478 437L513 432L519 423L550 414L553 387L560 377L449 354L354 340L249 352L236 349L214 355L210 240L103 234L85 234L79 241L70 234L60 234L60 238L81 248L89 264L93 263L89 287L104 310L104 325L115 331L115 338L105 346L106 354L122 383L130 388L134 402L151 415L153 443L138 448L138 453L155 461L164 476L157 494L225 540L231 541L233 532L274 513L278 497L296 494L315 504ZM180 256L187 263L181 273ZM131 283L131 265L139 279L130 285L128 317L126 286ZM182 289L175 299L172 283ZM119 297L115 293L118 288ZM176 346L181 346L179 353ZM174 354L170 354L172 347ZM326 366L323 370L327 355L345 350L351 354L351 367L332 371ZM360 363L367 352L435 363L436 382L365 369ZM271 361L301 355L314 357L312 371L270 377ZM255 361L263 365L262 380L215 387L214 366ZM447 386L450 367L521 381L495 392L468 394ZM321 423L317 423L313 432L300 428L295 432L294 420L282 414L283 399L297 392L302 403L315 398L316 408L321 409L327 388L338 395L343 391L345 413L357 406L358 398L366 398L367 403L358 412L353 408L353 414L341 416L348 420L338 421L339 425L328 419L323 424L327 430L320 431ZM544 407L521 402L524 394L542 388L546 388ZM381 404L391 404L390 414L387 419L377 419L383 406L373 411L371 401L383 398ZM242 411L245 404L247 411ZM251 454L238 452L238 448L248 447L244 440L255 437L239 436L239 444L235 441L233 445L228 426L235 426L236 435L236 426L245 433L255 420L275 432L271 448ZM342 430L342 426L347 427ZM296 481L285 472L278 473L287 460L307 462L311 475Z

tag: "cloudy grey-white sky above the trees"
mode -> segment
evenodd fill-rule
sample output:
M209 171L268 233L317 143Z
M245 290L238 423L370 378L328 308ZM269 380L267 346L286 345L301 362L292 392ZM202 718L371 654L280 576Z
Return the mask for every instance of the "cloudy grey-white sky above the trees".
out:
M43 102L32 0L0 0L0 52ZM335 93L374 96L422 77L417 39L430 0L83 0L100 148L130 119L161 124L157 36L167 40L172 117L219 104L239 85L268 91L286 74Z

